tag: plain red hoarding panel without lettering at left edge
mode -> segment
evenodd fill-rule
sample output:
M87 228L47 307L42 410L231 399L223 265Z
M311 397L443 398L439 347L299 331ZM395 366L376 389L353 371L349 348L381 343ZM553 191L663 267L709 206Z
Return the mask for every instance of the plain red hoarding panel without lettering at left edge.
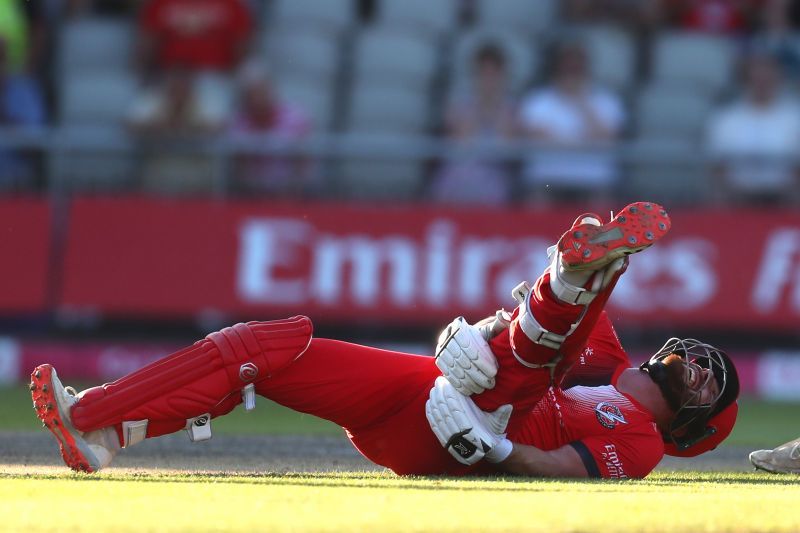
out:
M50 217L45 200L0 200L0 314L47 310L52 279Z

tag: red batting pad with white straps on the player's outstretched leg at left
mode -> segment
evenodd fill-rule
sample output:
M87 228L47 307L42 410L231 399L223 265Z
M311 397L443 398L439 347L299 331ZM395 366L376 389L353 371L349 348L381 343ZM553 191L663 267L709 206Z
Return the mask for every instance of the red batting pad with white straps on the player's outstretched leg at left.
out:
M83 391L72 407L80 431L114 426L123 446L187 429L210 438L211 418L230 412L300 357L311 342L308 317L239 323L100 387Z

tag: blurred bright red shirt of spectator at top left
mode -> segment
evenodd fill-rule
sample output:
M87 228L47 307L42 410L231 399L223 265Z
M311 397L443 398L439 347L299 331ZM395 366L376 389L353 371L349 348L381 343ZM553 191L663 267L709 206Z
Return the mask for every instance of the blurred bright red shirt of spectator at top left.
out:
M139 26L146 72L230 72L247 51L252 21L241 0L149 0Z

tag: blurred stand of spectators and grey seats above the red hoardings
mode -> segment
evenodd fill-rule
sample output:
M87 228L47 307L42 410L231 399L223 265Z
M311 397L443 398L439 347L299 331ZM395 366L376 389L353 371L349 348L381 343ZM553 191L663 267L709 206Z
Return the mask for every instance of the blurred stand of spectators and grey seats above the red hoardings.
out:
M796 0L5 0L0 189L798 205L799 82Z

